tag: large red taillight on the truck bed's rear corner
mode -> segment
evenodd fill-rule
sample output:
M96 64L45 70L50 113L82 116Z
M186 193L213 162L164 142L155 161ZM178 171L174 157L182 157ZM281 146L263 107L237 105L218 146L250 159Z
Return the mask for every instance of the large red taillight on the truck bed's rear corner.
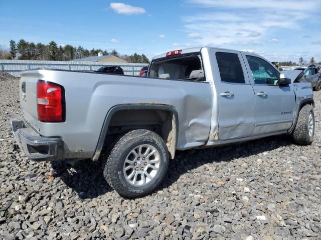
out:
M37 82L38 120L44 122L65 121L64 87L44 80Z

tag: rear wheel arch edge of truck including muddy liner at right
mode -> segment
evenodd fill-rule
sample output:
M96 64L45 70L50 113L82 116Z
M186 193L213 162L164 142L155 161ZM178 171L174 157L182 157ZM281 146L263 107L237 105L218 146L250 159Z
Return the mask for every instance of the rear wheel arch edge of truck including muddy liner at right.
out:
M112 117L115 115L116 112L122 111L122 110L164 110L168 111L173 114L173 125L172 125L172 134L175 134L174 136L174 144L167 144L168 150L170 152L170 156L173 159L175 157L175 151L178 141L178 129L179 129L179 118L178 118L178 112L176 108L173 105L167 105L167 104L119 104L111 107L109 111L107 112L105 116L104 123L102 125L100 135L98 138L98 143L96 145L96 149L94 152L94 155L92 157L92 160L98 160L100 153L103 149L104 142L107 136L107 130L110 125ZM163 138L164 139L164 138ZM166 139L164 139L166 141Z

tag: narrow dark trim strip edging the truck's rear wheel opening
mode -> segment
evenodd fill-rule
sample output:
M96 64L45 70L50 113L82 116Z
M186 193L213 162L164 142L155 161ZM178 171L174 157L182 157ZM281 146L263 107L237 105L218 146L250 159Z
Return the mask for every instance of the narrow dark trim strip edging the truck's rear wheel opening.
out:
M115 105L115 106L111 107L105 116L104 123L102 125L101 130L100 130L98 143L96 145L94 155L91 158L92 160L96 161L96 160L98 160L98 158L100 156L100 153L102 151L102 148L103 148L103 145L105 142L109 122L110 122L110 119L113 116L113 114L119 110L132 110L132 109L158 109L158 110L166 110L166 111L172 112L175 115L175 119L176 119L176 143L175 144L177 146L177 140L178 140L178 134L179 134L179 132L178 132L179 131L179 117L178 117L177 110L174 106L165 105L165 104L119 104L119 105Z

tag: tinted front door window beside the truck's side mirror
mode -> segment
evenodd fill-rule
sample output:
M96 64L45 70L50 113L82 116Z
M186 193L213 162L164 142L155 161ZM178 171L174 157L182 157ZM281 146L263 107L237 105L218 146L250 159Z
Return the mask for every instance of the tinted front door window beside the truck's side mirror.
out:
M251 55L246 55L246 59L251 68L254 84L278 85L280 73L270 63Z

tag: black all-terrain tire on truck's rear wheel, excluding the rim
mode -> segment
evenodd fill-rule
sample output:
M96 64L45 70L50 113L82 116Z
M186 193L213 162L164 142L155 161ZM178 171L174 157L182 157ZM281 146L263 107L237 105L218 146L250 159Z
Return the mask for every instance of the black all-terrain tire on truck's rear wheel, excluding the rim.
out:
M132 148L141 144L150 144L159 152L159 168L153 179L143 186L129 184L124 176L124 161ZM103 154L103 174L107 183L118 192L119 195L133 198L144 196L155 189L164 179L168 165L169 152L161 136L153 131L145 129L131 130L116 139L109 154Z

